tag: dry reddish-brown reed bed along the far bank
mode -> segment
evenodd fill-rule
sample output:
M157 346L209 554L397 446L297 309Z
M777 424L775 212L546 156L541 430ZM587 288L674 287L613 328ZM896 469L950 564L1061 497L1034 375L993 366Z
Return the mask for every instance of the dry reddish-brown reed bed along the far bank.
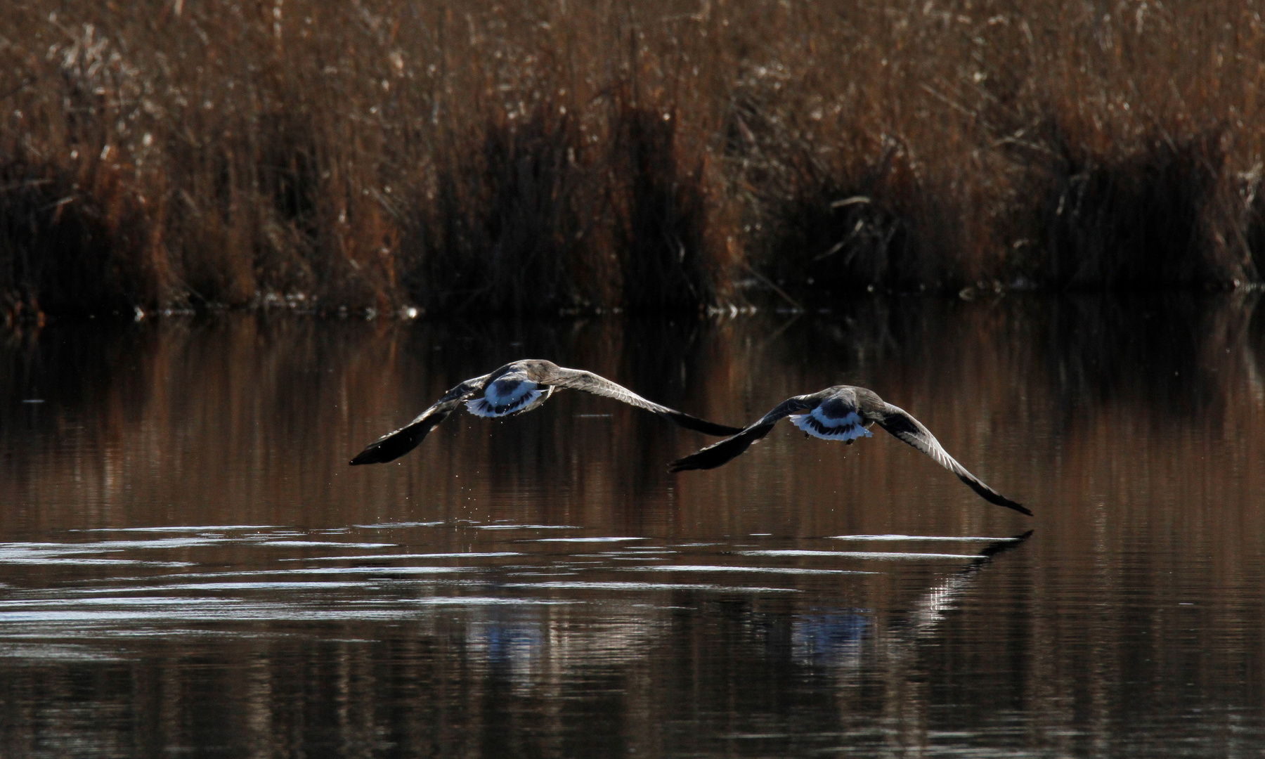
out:
M1259 278L1251 1L19 0L6 318ZM315 304L315 306L314 306Z

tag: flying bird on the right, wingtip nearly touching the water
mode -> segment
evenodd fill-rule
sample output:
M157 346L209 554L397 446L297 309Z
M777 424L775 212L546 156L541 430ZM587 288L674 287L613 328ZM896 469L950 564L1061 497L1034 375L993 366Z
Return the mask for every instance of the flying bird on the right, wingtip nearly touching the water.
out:
M865 428L877 423L884 430L934 458L936 463L956 474L989 503L1006 506L1030 516L1032 514L968 472L965 467L949 455L935 435L922 426L921 421L910 416L907 411L883 402L883 398L873 391L851 385L836 385L812 395L787 398L741 433L686 458L677 459L668 469L670 472L713 469L736 458L753 443L768 435L773 425L783 416L789 416L792 424L813 438L844 440L849 445L856 438L872 436Z

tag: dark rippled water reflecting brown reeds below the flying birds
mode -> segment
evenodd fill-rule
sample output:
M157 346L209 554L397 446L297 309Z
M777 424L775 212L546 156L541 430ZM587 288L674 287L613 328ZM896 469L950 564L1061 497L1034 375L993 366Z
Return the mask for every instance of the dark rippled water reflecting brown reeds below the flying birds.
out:
M1260 756L1256 301L3 335L0 754ZM347 467L521 357L864 385L1036 516L882 431L668 474L710 439L573 392Z

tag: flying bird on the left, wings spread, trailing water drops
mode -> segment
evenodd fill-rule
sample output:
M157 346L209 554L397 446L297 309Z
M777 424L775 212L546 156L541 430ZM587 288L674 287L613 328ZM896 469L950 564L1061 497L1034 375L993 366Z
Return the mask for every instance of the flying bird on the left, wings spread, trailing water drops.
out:
M583 390L593 395L624 401L630 406L653 411L678 425L708 435L732 435L739 428L712 424L703 419L660 406L592 372L568 369L548 361L526 358L505 364L491 374L467 379L444 393L441 398L421 412L407 426L378 438L364 448L352 464L381 464L409 453L421 443L426 433L439 426L449 414L466 402L466 409L476 416L510 416L530 411L545 402L557 388ZM482 397L471 397L482 392Z

